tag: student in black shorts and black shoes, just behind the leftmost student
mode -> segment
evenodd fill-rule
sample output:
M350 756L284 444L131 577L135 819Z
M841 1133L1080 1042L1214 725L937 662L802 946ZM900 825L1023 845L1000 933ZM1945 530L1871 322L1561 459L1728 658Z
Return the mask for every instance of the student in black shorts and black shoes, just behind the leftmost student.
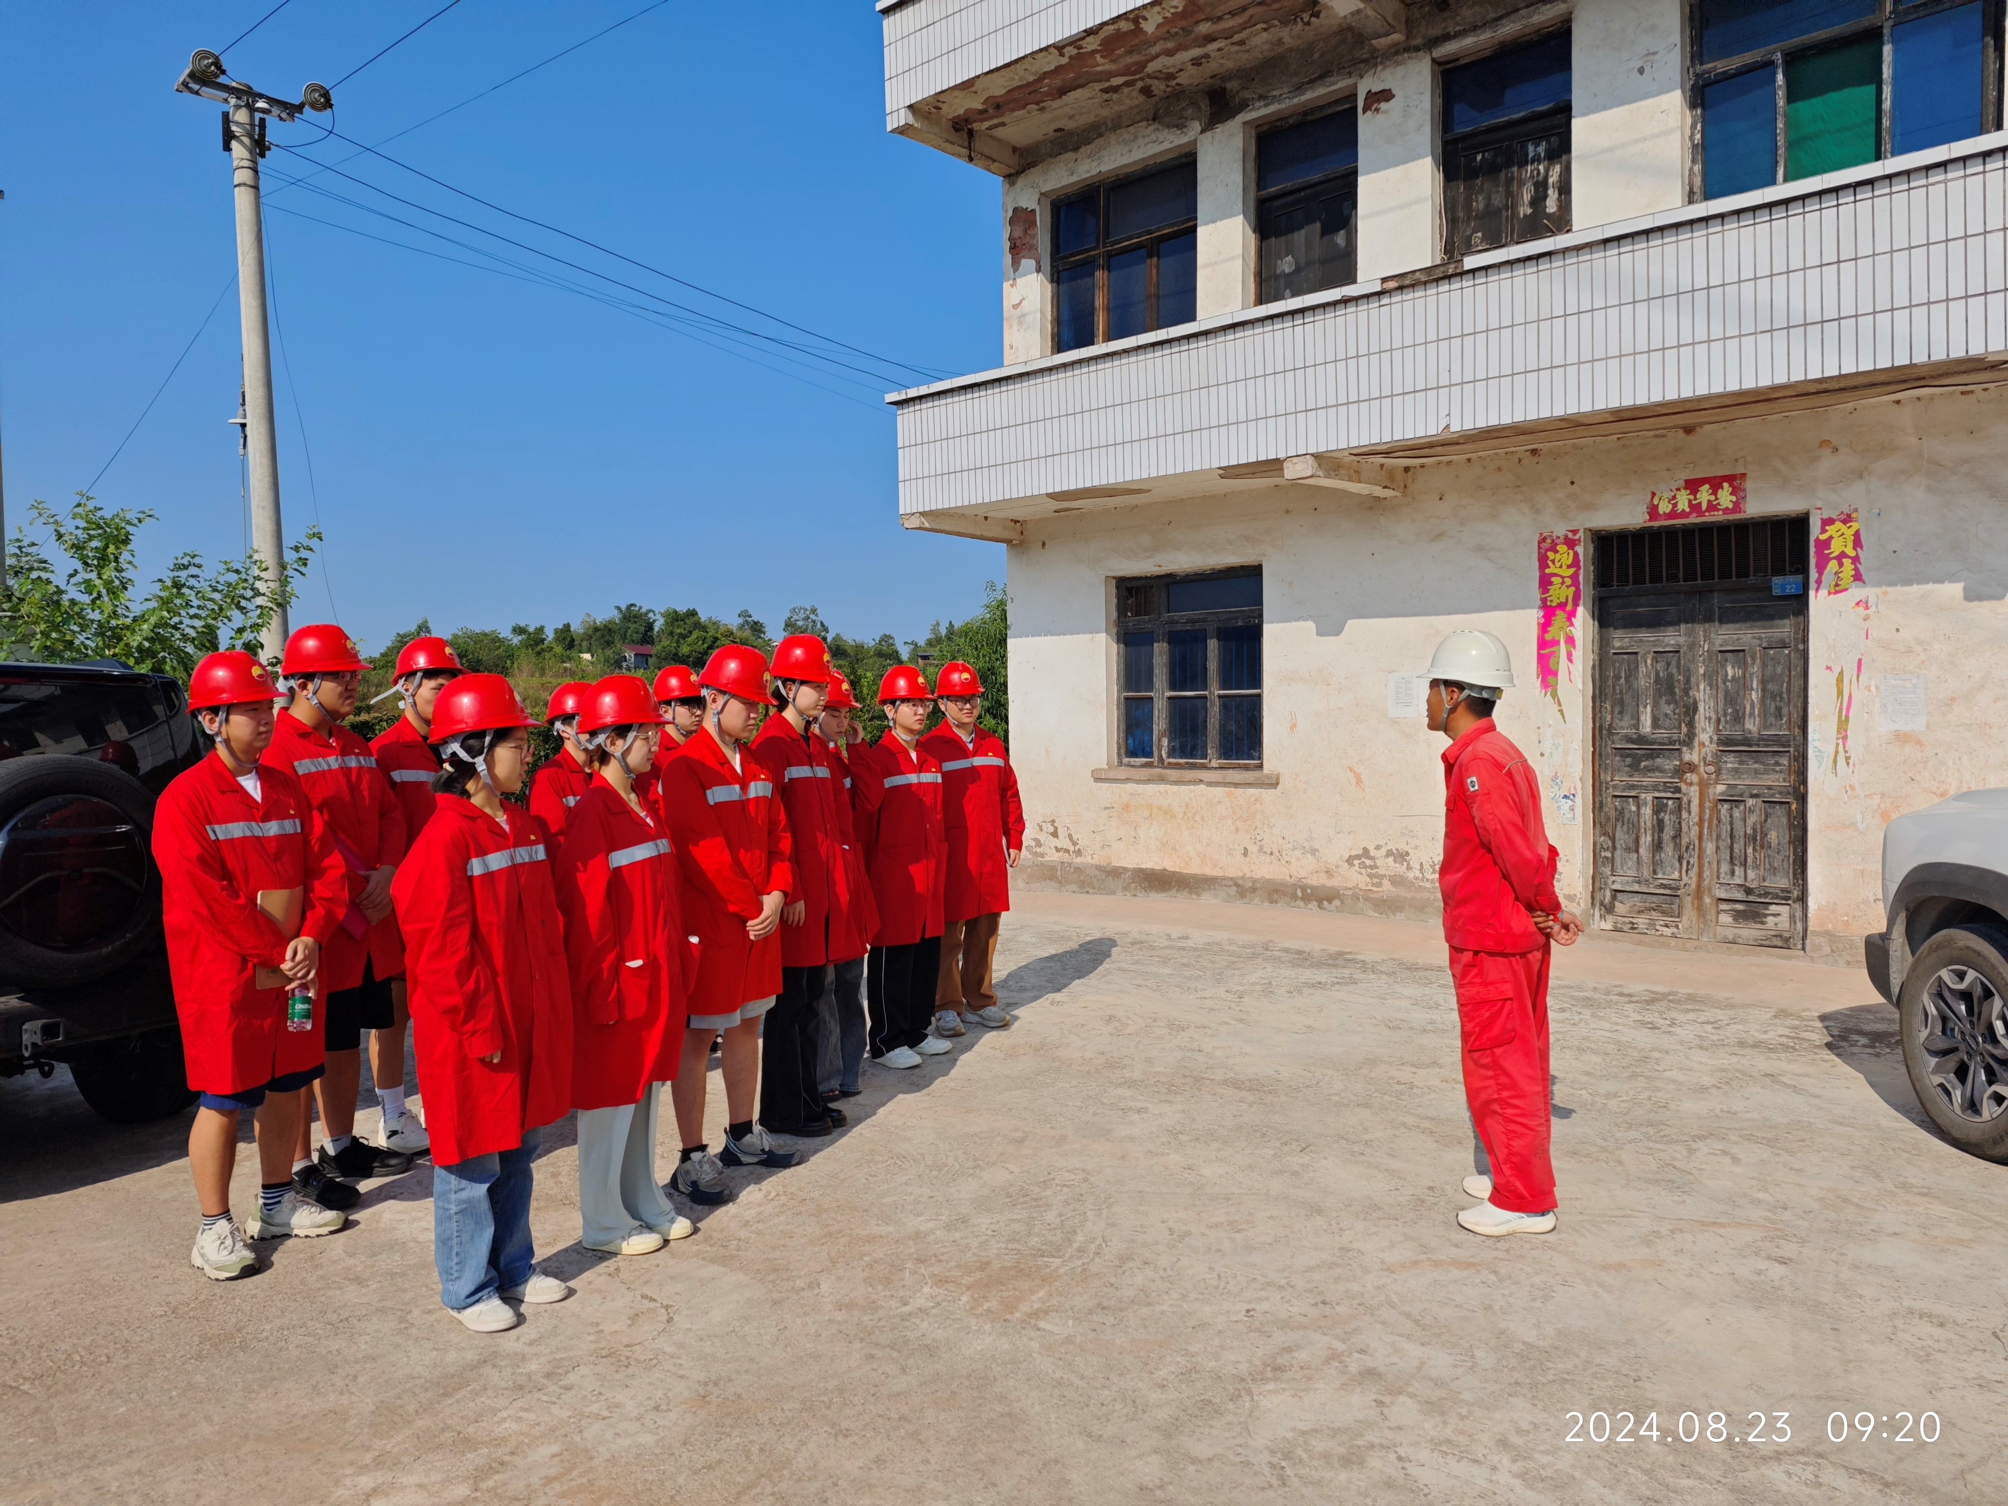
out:
M363 1030L398 1024L390 980L404 978L404 938L390 914L390 882L404 857L404 813L390 779L369 745L345 723L369 669L355 639L333 622L303 626L285 641L279 671L293 683L293 703L279 713L269 767L299 779L323 817L349 871L349 908L327 942L321 974L327 982L327 1076L315 1086L321 1100L321 1149L313 1151L301 1114L293 1151L293 1181L307 1197L331 1209L355 1207L361 1193L341 1177L396 1177L412 1167L424 1135L410 1149L369 1145L355 1137L355 1094L363 1078ZM402 1052L402 1034L400 1052ZM400 1070L400 1076L404 1072Z

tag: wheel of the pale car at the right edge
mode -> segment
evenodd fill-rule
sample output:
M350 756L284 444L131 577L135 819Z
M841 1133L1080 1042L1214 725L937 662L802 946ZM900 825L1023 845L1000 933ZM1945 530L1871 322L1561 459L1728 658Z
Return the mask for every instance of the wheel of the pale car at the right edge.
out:
M1942 930L1912 958L1898 1010L1904 1070L1938 1133L2008 1161L2008 934Z

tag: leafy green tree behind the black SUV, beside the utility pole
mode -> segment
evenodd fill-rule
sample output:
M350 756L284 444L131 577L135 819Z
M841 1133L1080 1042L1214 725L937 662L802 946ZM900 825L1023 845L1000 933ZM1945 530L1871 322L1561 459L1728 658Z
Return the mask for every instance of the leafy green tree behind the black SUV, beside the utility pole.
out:
M38 500L28 516L48 530L48 546L26 530L16 530L8 546L0 629L12 653L58 665L118 659L177 677L217 649L257 653L263 624L293 604L295 582L321 542L319 528L309 528L287 550L291 558L277 580L267 578L255 554L211 566L199 550L185 550L141 596L137 538L155 512L100 508L94 496L78 492L68 514Z

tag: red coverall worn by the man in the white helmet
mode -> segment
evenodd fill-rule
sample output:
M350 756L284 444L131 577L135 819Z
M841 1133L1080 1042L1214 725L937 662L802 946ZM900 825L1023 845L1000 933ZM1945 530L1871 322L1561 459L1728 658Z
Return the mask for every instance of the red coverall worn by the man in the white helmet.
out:
M1464 1096L1492 1163L1492 1207L1554 1209L1548 1159L1548 938L1562 910L1532 765L1490 717L1444 749L1444 940Z

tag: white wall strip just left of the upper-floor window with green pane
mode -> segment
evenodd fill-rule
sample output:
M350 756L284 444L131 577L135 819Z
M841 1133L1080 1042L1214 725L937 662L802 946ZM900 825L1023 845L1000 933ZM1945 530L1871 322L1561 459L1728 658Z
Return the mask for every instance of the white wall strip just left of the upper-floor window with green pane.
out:
M1576 229L1687 203L1683 0L1576 0L1570 205Z

